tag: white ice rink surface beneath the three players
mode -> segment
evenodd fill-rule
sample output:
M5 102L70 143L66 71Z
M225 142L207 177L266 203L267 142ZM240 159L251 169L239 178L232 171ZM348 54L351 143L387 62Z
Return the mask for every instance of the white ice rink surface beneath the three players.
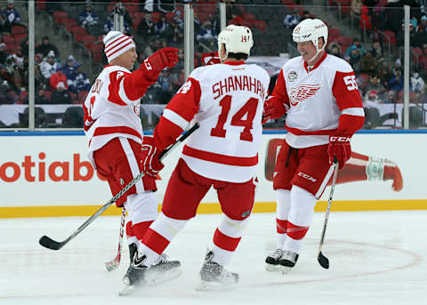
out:
M427 211L332 213L323 253L331 268L318 265L324 213L316 213L302 254L290 273L270 273L264 259L276 248L272 213L255 213L230 262L239 285L224 292L197 292L197 272L221 215L197 215L166 249L182 262L182 275L164 285L119 297L128 267L104 261L117 253L120 218L101 217L59 251L38 238L61 241L87 218L0 221L0 304L427 304Z

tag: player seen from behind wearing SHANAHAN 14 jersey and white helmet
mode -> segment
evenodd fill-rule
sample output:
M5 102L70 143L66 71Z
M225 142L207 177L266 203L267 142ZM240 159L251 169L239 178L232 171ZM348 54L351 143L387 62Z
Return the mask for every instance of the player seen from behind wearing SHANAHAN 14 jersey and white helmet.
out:
M207 191L214 188L222 221L214 232L199 272L199 289L230 287L238 274L226 266L242 237L254 206L254 178L262 136L262 108L270 83L268 73L245 61L253 46L249 28L230 25L218 36L221 64L196 68L168 103L154 132L161 151L190 124L189 136L165 192L157 221L138 249L133 268L147 269L173 237L196 215ZM156 174L158 158L147 164Z

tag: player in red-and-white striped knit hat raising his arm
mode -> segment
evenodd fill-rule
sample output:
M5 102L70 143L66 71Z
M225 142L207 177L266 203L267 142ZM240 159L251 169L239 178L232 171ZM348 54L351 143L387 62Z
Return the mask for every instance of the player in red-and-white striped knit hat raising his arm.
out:
M131 73L138 58L133 39L110 31L103 43L109 65L103 68L85 99L84 129L89 159L109 182L111 193L116 195L141 173L143 160L152 157L153 152L141 147L143 139L152 141L152 138L143 136L140 99L149 85L156 83L162 69L178 62L178 49L164 48L155 52ZM116 202L117 207L125 205L129 215L126 234L131 236L128 243L132 258L138 240L157 218L157 198L153 193L156 190L155 178L146 175ZM163 256L155 269L179 267L179 261L167 261ZM129 284L127 274L124 280ZM130 281L134 281L133 278Z

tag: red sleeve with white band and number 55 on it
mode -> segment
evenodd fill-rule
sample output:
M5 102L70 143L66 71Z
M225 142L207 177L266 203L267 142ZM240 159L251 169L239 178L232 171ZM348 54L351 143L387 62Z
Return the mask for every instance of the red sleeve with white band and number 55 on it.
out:
M354 72L337 71L332 92L341 110L337 133L351 137L365 122L365 112Z

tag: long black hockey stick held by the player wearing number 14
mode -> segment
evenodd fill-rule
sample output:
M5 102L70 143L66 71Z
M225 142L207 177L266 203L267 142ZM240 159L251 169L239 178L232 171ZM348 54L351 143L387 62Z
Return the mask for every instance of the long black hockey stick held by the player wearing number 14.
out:
M189 135L191 133L193 133L194 131L197 130L199 124L196 123L194 124L187 132L184 132L181 137L176 140L176 142L174 142L171 146L169 146L168 148L165 148L165 150L160 154L159 160L161 161L164 157L166 157L169 152L172 150L172 148L176 147L176 145L180 142L182 142L183 140L187 139L187 137L189 137ZM52 249L52 250L60 250L60 248L62 248L64 245L67 245L68 242L73 239L74 237L77 236L77 234L79 234L81 231L83 231L87 226L89 226L94 220L96 220L101 213L104 213L105 210L107 210L109 208L110 205L112 205L113 203L116 202L116 200L119 197L122 197L123 194L125 194L125 192L128 189L131 189L133 187L133 184L135 184L136 182L140 181L141 178L144 176L144 173L139 173L138 176L136 176L135 178L133 178L132 181L130 181L125 188L121 189L115 197L112 197L111 199L109 199L109 202L105 205L102 205L101 208L94 213L87 221L85 221L80 227L77 228L76 231L73 232L73 234L71 234L69 237L67 237L65 240L63 240L62 242L57 242L54 241L52 238L50 237L46 237L45 235L43 237L40 238L40 240L38 241L38 243L40 245L43 245L45 248L48 249Z

